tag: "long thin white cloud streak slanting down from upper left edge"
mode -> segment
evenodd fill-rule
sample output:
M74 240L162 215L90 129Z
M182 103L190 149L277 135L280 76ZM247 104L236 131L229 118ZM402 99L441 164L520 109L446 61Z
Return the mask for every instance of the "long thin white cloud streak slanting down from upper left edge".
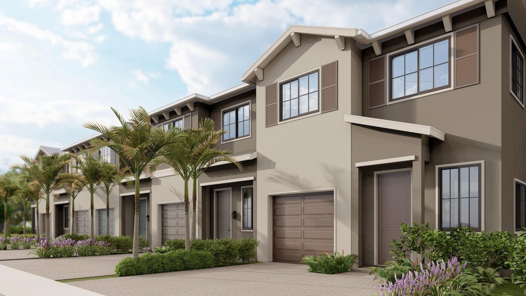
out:
M64 48L63 58L78 61L83 66L89 66L97 60L95 47L87 42L69 41L51 31L3 15L0 15L0 27L5 27L11 32L33 37L36 40L47 41L54 46L61 46Z

